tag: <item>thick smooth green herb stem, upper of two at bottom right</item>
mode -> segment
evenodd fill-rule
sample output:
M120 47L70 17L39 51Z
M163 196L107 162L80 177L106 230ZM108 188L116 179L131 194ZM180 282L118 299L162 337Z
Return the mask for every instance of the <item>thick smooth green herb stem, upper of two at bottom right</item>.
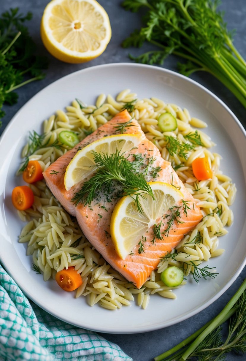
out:
M238 288L235 295L230 299L227 305L223 308L223 310L216 316L210 325L202 331L202 333L196 338L196 340L189 346L189 348L183 353L180 361L185 361L187 358L193 353L193 351L198 347L198 345L205 339L207 335L210 334L216 327L221 325L223 319L227 316L228 312L233 308L239 297L246 290L246 279L243 281L241 286Z

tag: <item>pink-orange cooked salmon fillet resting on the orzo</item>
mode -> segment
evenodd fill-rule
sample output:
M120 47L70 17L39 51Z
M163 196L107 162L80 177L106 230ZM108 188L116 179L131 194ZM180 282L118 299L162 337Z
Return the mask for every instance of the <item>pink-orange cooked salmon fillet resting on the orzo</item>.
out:
M139 254L139 245L136 245L131 254L124 260L120 258L114 248L114 244L110 236L110 219L115 205L119 199L119 192L121 188L117 183L114 184L109 194L98 194L91 205L84 206L78 204L76 207L71 199L74 194L79 191L84 181L76 186L72 187L69 191L65 190L64 186L64 174L66 168L79 149L85 147L87 144L102 138L103 136L119 134L117 125L129 121L131 116L124 110L118 113L109 122L102 125L91 135L88 135L82 142L77 144L73 149L65 153L58 158L53 164L44 171L44 179L57 200L71 215L77 218L79 226L83 231L89 242L96 248L96 250L104 257L104 259L120 274L122 274L129 282L135 284L137 288L140 288L150 276L152 270L157 268L160 258L165 256L168 252L171 252L173 248L183 239L184 235L192 230L201 220L202 213L193 196L186 190L184 184L180 181L178 175L173 170L171 163L165 161L161 157L161 153L158 148L150 142L144 132L141 130L139 123L132 119L131 126L125 127L125 133L139 134L141 136L141 142L136 149L132 149L126 156L129 161L136 159L134 155L142 155L142 168L144 169L150 160L153 160L151 167L160 167L161 170L153 178L151 175L147 175L147 181L160 181L173 184L180 188L183 193L183 199L189 201L188 205L190 210L187 212L187 216L183 211L183 203L180 201L177 206L180 206L180 221L183 223L174 222L168 236L163 236L163 240L156 239L154 244L153 229L150 228L143 237L146 237L144 242L144 252ZM58 172L54 174L55 170ZM52 174L51 174L52 173ZM167 228L168 217L162 217L161 232ZM159 221L160 221L159 220ZM129 230L130 231L130 230Z

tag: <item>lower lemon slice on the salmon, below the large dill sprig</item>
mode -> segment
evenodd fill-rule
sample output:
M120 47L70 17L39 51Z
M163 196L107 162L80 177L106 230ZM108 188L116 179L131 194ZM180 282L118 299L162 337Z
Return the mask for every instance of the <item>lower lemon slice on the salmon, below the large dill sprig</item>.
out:
M183 197L177 188L163 182L149 183L150 195L139 197L143 213L134 205L134 196L122 197L114 208L110 221L110 234L117 254L123 260L139 243L142 235L158 221L167 210Z

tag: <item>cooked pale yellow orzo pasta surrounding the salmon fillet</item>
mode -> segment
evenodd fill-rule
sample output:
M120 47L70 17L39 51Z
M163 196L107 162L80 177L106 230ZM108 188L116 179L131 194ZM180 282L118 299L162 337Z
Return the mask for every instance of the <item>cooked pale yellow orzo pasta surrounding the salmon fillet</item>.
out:
M215 144L201 131L206 128L206 123L190 116L187 109L181 109L176 104L166 104L157 98L138 99L137 94L131 93L129 89L120 92L116 99L101 94L95 105L85 105L75 99L65 112L57 110L56 114L44 121L42 135L35 132L30 134L22 157L26 161L38 160L45 170L70 149L59 142L61 131L76 132L79 140L82 140L122 109L129 111L139 122L146 137L157 146L162 157L172 163L203 213L201 222L185 235L172 254L160 260L157 270L151 272L142 288L134 287L104 261L85 239L76 219L58 204L44 181L30 185L35 196L32 207L18 211L22 221L28 221L21 231L19 242L27 243L26 254L32 255L35 269L43 273L44 280L55 278L58 271L74 266L83 280L76 290L76 297L86 296L89 305L98 303L107 309L129 305L134 295L142 308L148 306L150 295L154 293L175 299L174 288L167 287L160 277L168 266L181 267L186 276L191 273L197 281L201 276L215 277L214 270L199 265L224 252L224 249L218 248L219 237L227 233L225 226L233 222L229 206L236 196L235 184L220 170L221 156L210 150ZM174 131L163 132L159 128L158 118L164 112L176 118L177 128ZM168 146L170 137L192 145L191 149L185 155L173 152ZM204 156L208 158L212 178L199 182L194 177L192 162ZM185 281L180 286L183 284Z

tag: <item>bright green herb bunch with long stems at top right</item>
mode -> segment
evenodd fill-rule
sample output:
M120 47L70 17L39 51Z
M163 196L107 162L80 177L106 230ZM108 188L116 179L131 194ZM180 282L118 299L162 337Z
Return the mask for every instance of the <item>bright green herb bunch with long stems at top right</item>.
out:
M145 41L159 47L131 59L163 64L173 53L186 59L178 64L180 73L211 73L246 108L246 62L233 45L218 0L124 0L122 5L133 12L147 10L144 26L124 40L123 47L141 47Z

